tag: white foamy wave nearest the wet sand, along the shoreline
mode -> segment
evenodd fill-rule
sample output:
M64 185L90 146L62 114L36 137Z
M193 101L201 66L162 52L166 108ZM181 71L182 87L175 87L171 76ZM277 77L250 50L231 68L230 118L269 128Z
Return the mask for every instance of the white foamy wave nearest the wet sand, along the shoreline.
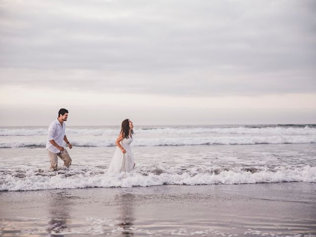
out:
M202 170L202 171L197 171ZM47 189L109 188L155 185L214 185L214 184L256 184L275 182L316 182L316 167L258 167L255 172L236 167L231 170L221 168L192 168L186 171L165 169L147 170L138 167L130 173L106 174L106 170L91 168L81 170L58 170L50 172L39 169L1 170L0 191L27 191Z

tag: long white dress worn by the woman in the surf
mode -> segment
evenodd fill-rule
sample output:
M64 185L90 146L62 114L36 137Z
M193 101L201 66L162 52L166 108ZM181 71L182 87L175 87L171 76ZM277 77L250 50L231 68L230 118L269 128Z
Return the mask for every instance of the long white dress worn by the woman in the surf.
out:
M133 138L129 137L123 138L123 140L119 142L119 144L125 149L126 153L123 154L118 147L116 148L107 173L119 173L122 171L129 172L134 168L135 159L132 154L132 150L130 149L132 141Z

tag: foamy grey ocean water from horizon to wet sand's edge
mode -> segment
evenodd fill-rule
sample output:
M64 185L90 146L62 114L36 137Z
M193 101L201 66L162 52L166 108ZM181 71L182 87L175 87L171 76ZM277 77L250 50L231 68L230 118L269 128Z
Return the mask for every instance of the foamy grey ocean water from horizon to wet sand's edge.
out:
M72 166L49 171L47 127L0 127L0 191L316 182L316 125L134 127L136 166L106 174L118 126L68 126Z

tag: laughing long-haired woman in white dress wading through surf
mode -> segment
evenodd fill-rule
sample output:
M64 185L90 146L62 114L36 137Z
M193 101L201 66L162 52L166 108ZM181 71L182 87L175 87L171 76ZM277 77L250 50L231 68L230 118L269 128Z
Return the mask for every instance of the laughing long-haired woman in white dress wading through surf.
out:
M120 133L115 144L116 151L109 165L107 173L129 172L135 166L135 159L130 149L133 141L133 122L129 119L122 121Z

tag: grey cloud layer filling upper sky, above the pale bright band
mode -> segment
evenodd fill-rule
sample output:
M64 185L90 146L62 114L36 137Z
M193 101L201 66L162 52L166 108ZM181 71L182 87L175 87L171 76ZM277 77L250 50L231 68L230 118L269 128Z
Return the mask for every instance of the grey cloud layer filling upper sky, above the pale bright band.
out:
M315 93L316 4L2 1L2 85L186 96Z

